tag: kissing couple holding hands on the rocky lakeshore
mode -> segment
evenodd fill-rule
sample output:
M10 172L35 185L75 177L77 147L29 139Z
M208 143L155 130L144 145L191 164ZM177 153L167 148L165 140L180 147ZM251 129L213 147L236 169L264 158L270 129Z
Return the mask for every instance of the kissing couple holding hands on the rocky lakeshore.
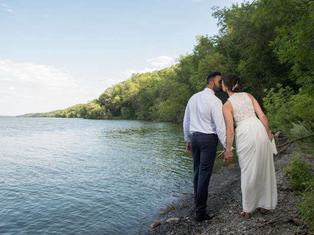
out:
M222 90L229 95L224 105L215 96ZM235 137L241 168L243 211L240 214L250 218L251 212L256 209L265 213L265 209L272 210L277 205L276 175L270 145L273 135L259 103L251 94L241 90L240 79L235 74L222 78L221 73L212 72L207 77L205 90L194 94L187 103L183 130L186 151L193 155L197 221L214 216L206 212L206 202L218 139L225 149L224 161L231 162Z

